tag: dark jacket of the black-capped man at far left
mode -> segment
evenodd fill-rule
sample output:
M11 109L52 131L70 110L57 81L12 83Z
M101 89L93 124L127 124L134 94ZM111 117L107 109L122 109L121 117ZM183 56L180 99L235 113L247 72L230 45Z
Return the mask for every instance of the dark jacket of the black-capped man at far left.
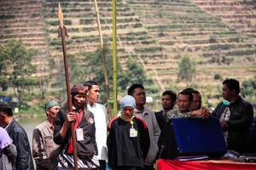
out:
M33 170L34 166L30 144L24 128L13 120L6 130L9 133L9 137L13 139L13 144L15 144L17 150L17 158L13 170Z

